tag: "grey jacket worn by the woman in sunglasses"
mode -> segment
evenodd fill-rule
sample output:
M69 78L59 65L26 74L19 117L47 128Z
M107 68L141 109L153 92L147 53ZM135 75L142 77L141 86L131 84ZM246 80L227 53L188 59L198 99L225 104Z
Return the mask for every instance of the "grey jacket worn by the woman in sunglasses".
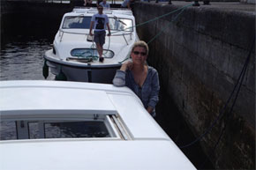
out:
M117 70L116 76L113 79L113 84L116 86L126 85L132 89L132 91L135 92L142 101L145 108L148 106L155 107L159 100L159 78L157 70L155 70L153 67L148 66L147 78L142 87L135 83L131 70L126 70L125 72L123 70ZM153 111L151 115L155 116L155 112Z

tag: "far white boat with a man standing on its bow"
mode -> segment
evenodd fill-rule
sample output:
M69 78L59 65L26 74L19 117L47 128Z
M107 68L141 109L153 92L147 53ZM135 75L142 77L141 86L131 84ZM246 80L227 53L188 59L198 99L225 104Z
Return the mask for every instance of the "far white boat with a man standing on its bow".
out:
M130 57L133 43L139 40L135 18L131 10L104 9L103 13L109 17L111 36L106 36L105 60L99 63L95 43L88 36L91 18L97 12L96 8L81 7L64 14L53 48L44 55L51 73L69 81L112 82L121 63Z

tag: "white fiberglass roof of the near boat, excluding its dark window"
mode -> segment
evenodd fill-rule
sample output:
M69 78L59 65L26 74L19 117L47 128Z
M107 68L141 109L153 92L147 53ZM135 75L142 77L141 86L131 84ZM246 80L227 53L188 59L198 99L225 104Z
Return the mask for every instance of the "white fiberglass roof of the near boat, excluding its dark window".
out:
M112 115L118 113L117 119L120 122L119 125L113 125L114 122L110 124L112 132L120 135L121 131L126 131L128 136L125 139L120 135L115 140L111 137L102 137L101 140L75 137L0 141L1 170L195 169L177 145L154 122L139 98L127 87L73 82L11 81L0 82L0 92L5 92L0 98L0 106L5 114L13 109L16 109L13 112L17 112L17 109L32 109L42 114L49 108L51 111L56 108L59 113L65 111L64 117L71 117L73 114L69 108L74 111L78 107L82 112L74 114L77 116L87 114L83 111L90 107L90 112L102 111L102 115L106 111ZM92 119L96 117L93 116ZM40 128L39 124L31 123L28 128ZM23 126L22 123L18 125ZM36 131L29 133L37 137Z

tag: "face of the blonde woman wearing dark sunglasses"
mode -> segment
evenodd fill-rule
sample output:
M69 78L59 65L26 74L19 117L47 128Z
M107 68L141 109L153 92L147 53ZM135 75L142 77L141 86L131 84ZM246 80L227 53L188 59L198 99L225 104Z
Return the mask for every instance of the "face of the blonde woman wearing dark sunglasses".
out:
M144 64L147 60L147 52L145 48L136 47L132 51L132 62Z

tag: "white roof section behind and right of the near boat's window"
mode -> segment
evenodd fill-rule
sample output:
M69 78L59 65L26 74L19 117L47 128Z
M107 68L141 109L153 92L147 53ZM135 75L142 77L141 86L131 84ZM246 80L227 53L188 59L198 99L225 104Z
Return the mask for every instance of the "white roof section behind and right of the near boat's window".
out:
M116 115L118 113L132 137L169 140L169 137L147 113L139 98L127 88L117 88L113 85L47 81L34 82L34 85L33 82L30 82L32 87L25 87L29 85L26 84L29 82L24 82L25 86L22 87L19 82L13 82L13 84L15 83L19 87L0 88L0 92L4 94L4 97L0 98L0 106L3 111L6 111L2 115L5 113L5 116L14 117L17 115L17 111L27 116L34 115L34 117L41 115L81 117L87 114ZM107 90L106 92L103 91L104 88ZM11 112L15 110L16 112ZM31 111L29 112L29 110Z

